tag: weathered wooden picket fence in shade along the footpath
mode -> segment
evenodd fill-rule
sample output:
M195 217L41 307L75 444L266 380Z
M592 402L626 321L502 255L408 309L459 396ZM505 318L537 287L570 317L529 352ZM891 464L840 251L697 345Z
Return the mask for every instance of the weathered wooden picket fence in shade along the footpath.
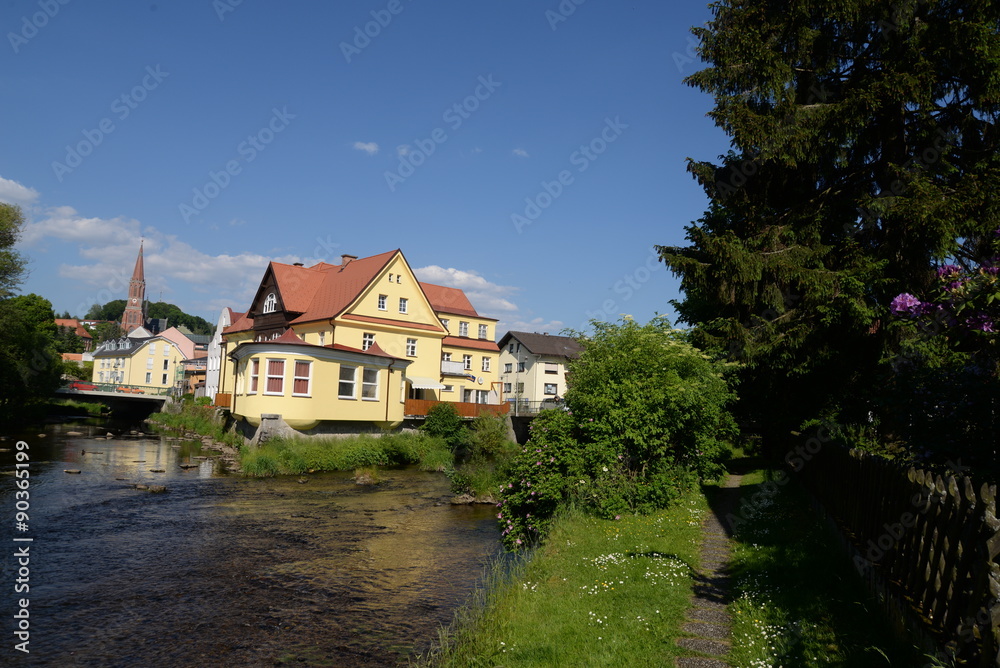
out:
M890 621L922 626L958 665L1000 667L995 485L835 443L822 445L798 475L847 539Z

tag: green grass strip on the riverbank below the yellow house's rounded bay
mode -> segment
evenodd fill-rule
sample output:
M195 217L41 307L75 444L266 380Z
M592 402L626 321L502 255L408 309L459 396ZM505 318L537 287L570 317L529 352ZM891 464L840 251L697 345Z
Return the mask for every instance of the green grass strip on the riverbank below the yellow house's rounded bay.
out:
M243 472L255 477L407 464L419 464L425 471L444 471L452 465L451 451L443 439L410 433L276 438L258 447L244 446L240 453Z

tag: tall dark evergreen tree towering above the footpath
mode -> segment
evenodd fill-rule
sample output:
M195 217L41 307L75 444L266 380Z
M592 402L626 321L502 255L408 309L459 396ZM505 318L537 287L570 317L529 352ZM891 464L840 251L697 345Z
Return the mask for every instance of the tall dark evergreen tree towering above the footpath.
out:
M695 341L744 363L772 434L865 419L891 299L1000 227L1000 1L722 0L694 30L731 137L689 161L710 198L681 277Z

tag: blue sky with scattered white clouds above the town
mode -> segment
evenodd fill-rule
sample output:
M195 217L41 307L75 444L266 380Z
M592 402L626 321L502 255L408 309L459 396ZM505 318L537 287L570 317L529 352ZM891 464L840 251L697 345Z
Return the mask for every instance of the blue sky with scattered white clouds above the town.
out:
M401 248L507 329L672 314L654 244L707 200L685 158L728 139L701 2L0 6L0 200L22 291L56 311L147 296L215 321L269 260Z

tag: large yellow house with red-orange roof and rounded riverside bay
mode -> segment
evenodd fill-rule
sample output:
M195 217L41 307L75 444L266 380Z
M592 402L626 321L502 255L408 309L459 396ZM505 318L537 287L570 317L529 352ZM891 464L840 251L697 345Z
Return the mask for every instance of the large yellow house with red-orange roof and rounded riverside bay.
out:
M223 330L216 403L254 426L277 414L299 430L393 427L438 401L468 416L504 411L495 322L461 290L420 283L399 250L271 262L249 310Z

